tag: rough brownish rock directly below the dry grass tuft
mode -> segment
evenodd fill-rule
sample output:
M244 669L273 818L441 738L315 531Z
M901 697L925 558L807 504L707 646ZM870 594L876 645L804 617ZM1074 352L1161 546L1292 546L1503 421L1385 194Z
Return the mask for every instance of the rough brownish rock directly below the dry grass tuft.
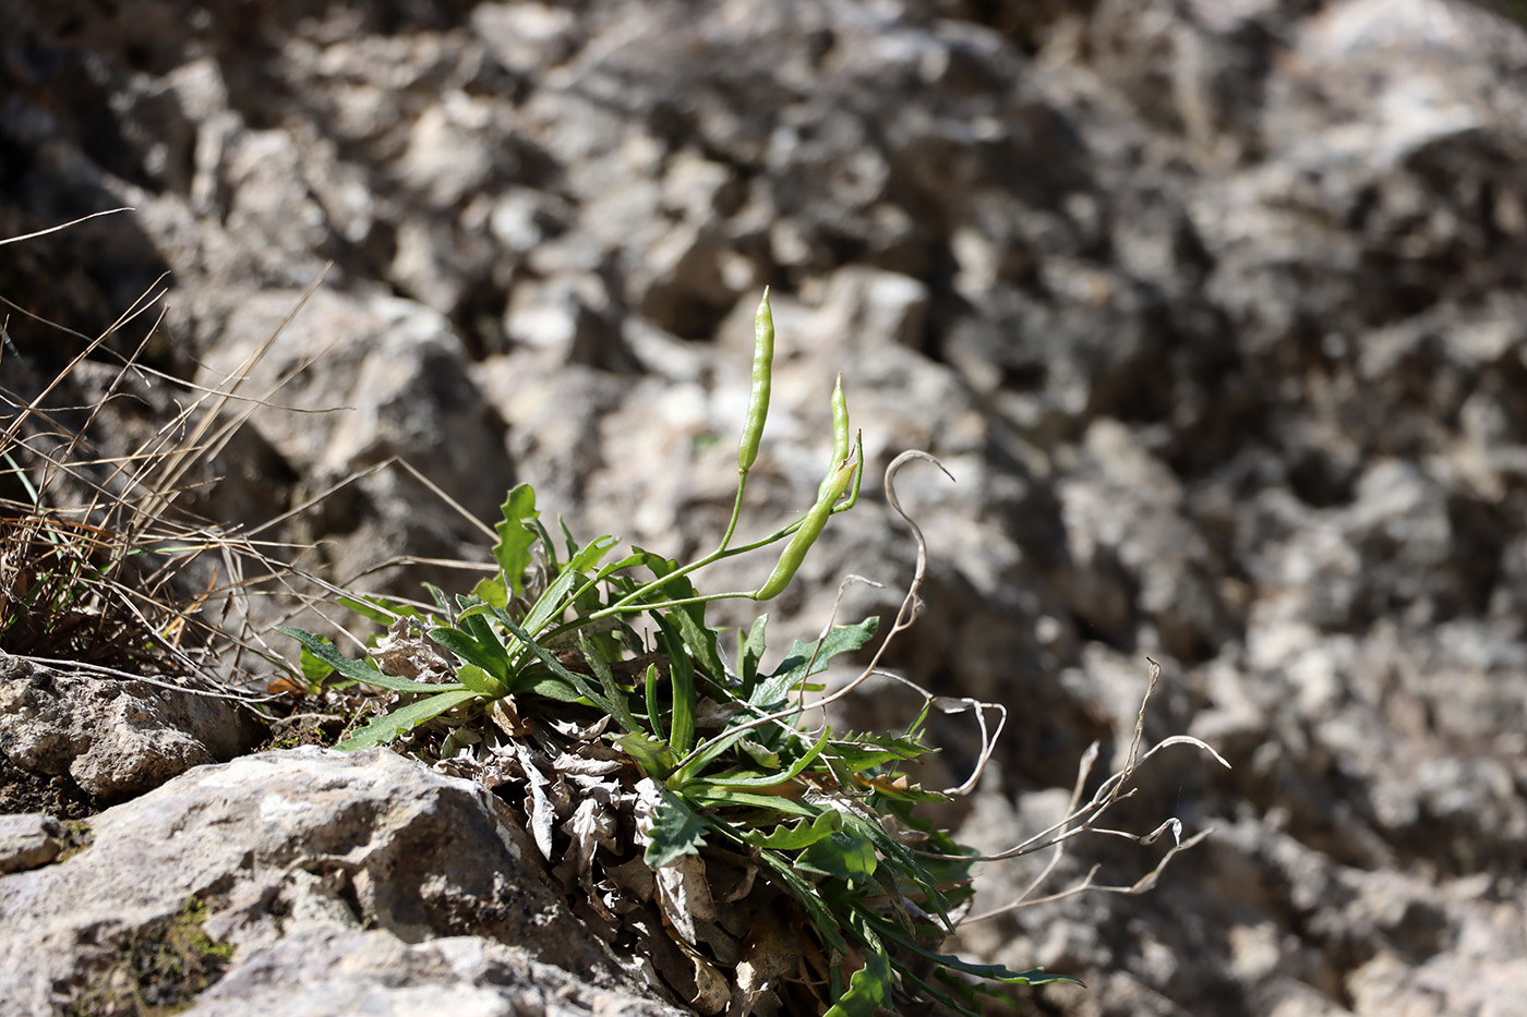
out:
M263 736L264 725L226 693L0 655L0 751L34 773L67 774L104 802L232 759Z

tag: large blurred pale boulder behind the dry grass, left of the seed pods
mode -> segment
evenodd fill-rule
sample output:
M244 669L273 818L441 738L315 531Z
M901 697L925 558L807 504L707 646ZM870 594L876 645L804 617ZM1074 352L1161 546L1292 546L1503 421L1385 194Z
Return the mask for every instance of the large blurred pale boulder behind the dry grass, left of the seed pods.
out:
M515 484L504 421L466 370L461 339L438 313L392 296L319 289L281 321L296 292L250 295L229 308L202 379L244 379L250 426L301 478L298 504L341 484L302 516L304 536L328 541L336 573L353 577L389 556L464 557ZM275 342L253 357L264 342ZM470 518L411 476L403 460ZM348 481L348 483L347 483ZM455 582L454 573L432 573ZM412 596L417 580L395 592Z

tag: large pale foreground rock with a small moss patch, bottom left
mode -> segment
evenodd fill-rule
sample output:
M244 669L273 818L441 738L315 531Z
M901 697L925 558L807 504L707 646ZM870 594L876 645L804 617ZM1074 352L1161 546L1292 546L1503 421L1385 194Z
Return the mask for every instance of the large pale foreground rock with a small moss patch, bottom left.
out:
M0 877L17 1014L113 991L127 1005L151 985L124 974L134 944L176 922L200 931L188 942L202 954L223 945L205 996L154 983L191 1012L409 1014L441 1000L483 1014L680 1012L632 988L570 916L486 789L389 751L200 767L93 817L90 837L67 861Z

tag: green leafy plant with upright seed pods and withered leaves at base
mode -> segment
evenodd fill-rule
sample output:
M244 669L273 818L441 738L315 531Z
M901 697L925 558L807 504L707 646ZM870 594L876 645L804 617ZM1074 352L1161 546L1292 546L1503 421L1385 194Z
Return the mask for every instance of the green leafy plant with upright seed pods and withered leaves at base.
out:
M829 519L860 495L863 440L851 431L840 377L832 460L815 502L789 525L733 544L773 354L765 292L736 498L709 554L680 563L631 547L609 560L615 538L580 544L565 525L559 548L521 484L502 505L496 568L469 596L431 588L434 609L344 602L388 626L366 660L282 631L302 644L310 687L357 683L395 698L341 748L395 742L516 802L574 910L701 1012L870 1017L922 1000L974 1014L980 993L1060 976L939 953L968 907L976 858L915 812L947 794L921 788L907 767L933 751L922 736L935 709L974 712L982 765L1000 733L986 718L1005 713L924 693L899 731L812 727L805 718L814 710L883 673L889 638L855 681L812 698L828 664L869 646L878 620L829 623L770 670L768 615L738 632L730 661L724 632L705 620L715 600L782 592ZM893 487L913 458L936 463L910 452L886 475L887 499L918 542L916 577L889 635L912 625L921 603L925 547ZM774 545L777 563L757 589L705 594L692 582L705 565ZM950 791L973 786L974 777ZM1099 791L1087 808L1101 814L1112 800ZM1060 846L1087 822L1015 854Z

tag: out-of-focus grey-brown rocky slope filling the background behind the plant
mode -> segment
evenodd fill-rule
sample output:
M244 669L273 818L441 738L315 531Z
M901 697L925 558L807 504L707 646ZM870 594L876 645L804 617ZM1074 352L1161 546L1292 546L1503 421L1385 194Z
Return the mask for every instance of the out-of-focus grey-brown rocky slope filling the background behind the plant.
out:
M1015 843L1089 742L1116 760L1147 657L1147 738L1234 765L1173 748L1141 774L1121 823L1215 828L1151 893L993 919L964 950L1087 980L1035 1012L1522 1014L1507 8L11 2L0 237L134 211L0 247L0 373L43 377L162 293L93 359L140 347L264 400L240 403L208 516L253 525L402 457L484 521L530 481L582 536L676 556L730 508L770 284L745 525L814 498L837 371L872 460L870 504L774 605L776 647L846 573L887 585L847 614L895 605L913 547L878 476L922 447L957 484L899 486L931 573L893 663L1012 713L962 837ZM292 536L339 580L484 553L395 467ZM881 692L861 719L895 722ZM941 736L962 779L973 733ZM1093 863L1133 883L1164 849L1080 846L1055 889ZM982 906L1034 870L994 870Z

